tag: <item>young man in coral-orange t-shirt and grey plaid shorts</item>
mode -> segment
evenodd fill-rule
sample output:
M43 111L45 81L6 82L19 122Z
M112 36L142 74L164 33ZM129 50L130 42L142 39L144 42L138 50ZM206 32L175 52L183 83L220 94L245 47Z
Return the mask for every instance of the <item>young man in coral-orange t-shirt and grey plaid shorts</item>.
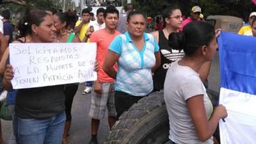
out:
M92 140L90 144L97 144L97 131L99 129L100 119L105 115L108 109L109 128L116 122L115 109L115 79L111 78L102 69L103 62L106 58L109 45L115 36L120 35L116 31L118 22L118 10L115 7L109 6L104 12L104 22L106 27L95 31L90 36L90 42L97 44L96 60L99 63L99 71L97 72L97 81L93 82L92 100L89 111L89 116L92 118ZM114 66L117 68L117 65Z

